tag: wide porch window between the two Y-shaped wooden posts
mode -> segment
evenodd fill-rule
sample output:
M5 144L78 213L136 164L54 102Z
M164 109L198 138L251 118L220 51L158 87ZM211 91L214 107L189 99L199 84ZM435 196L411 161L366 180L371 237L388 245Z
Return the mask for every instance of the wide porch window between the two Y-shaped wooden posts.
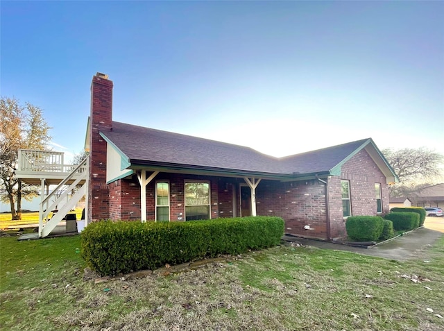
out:
M185 221L210 219L210 183L185 183Z

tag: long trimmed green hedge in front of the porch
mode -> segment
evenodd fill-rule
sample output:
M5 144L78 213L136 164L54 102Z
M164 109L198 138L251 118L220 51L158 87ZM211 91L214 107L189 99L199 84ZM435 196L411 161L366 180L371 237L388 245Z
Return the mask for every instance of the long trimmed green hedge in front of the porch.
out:
M280 244L280 217L244 217L192 222L101 221L81 234L82 257L101 275L118 275L164 264L240 254Z

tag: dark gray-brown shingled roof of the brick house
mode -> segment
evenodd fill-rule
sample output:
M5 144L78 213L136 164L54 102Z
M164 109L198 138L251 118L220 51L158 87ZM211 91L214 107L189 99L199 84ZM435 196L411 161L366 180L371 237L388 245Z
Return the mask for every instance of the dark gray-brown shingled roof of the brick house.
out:
M330 171L370 140L362 139L286 158L275 158L245 146L115 121L112 122L112 130L103 130L101 133L128 156L128 161L132 164L170 165L280 175Z

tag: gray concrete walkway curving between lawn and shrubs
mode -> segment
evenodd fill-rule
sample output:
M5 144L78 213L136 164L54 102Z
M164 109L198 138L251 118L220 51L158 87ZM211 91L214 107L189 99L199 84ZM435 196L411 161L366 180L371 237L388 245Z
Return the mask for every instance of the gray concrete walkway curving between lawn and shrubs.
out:
M407 235L395 238L384 244L373 246L373 248L359 248L343 244L334 244L331 242L303 239L298 237L284 236L287 241L294 241L303 246L314 246L318 248L336 249L339 251L348 251L376 257L384 257L390 260L405 261L418 256L425 248L434 244L434 242L444 234L436 230L420 228L409 232Z

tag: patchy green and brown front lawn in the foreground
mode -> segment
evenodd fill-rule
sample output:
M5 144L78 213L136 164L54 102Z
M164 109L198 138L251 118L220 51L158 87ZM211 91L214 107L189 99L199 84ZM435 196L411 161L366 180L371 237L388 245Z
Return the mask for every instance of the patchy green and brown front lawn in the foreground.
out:
M1 330L444 330L444 237L409 262L278 246L98 285L80 236L0 245Z

